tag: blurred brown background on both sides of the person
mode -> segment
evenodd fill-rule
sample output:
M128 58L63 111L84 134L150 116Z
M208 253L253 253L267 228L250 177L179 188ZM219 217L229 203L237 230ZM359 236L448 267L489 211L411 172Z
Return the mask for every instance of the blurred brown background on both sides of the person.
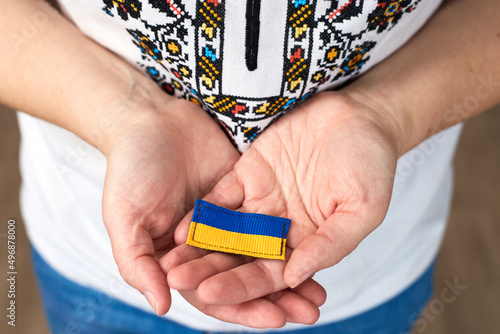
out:
M15 113L0 105L0 273L4 277L0 333L49 333L19 210L18 146ZM414 333L496 334L500 328L500 106L466 124L455 167L455 195L438 260L436 294ZM9 219L17 222L15 328L7 325L5 316ZM450 302L441 292L454 282L466 288Z

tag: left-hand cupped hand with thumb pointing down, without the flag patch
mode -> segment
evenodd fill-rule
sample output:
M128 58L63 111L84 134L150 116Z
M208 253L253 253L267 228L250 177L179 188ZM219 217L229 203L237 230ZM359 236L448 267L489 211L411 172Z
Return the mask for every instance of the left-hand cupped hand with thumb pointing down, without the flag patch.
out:
M162 93L163 94L163 93ZM155 96L113 131L105 153L103 218L123 279L157 314L171 303L157 258L174 247L182 217L239 158L219 125L197 105Z

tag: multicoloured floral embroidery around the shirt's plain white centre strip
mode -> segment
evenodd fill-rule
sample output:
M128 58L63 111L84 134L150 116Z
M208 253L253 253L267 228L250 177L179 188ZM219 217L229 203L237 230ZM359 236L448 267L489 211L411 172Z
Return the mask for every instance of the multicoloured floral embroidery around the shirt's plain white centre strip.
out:
M280 94L265 96L263 92L262 98L223 93L227 0L103 0L103 11L124 21L142 54L138 64L153 80L168 94L202 106L244 151L297 103L358 75L370 61L379 36L421 2L283 1L287 1L282 18L285 38L282 48L276 46L283 57ZM261 0L247 0L243 5L247 15L238 24L250 39L244 57L247 70L253 71L259 66Z

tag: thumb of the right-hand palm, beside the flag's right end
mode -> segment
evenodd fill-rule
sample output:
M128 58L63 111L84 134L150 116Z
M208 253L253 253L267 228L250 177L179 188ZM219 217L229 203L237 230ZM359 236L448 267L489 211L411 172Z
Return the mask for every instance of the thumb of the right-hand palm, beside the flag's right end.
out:
M304 239L294 249L285 268L288 286L299 285L315 272L337 264L351 253L373 230L360 219L358 214L335 213L315 234Z

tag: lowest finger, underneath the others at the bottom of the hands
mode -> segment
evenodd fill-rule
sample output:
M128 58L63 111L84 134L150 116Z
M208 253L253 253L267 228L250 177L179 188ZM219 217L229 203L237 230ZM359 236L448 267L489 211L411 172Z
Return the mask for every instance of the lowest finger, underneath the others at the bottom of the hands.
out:
M208 305L196 298L195 290L179 291L191 305L216 319L253 328L280 328L287 314L281 307L266 299L256 299L236 305Z

